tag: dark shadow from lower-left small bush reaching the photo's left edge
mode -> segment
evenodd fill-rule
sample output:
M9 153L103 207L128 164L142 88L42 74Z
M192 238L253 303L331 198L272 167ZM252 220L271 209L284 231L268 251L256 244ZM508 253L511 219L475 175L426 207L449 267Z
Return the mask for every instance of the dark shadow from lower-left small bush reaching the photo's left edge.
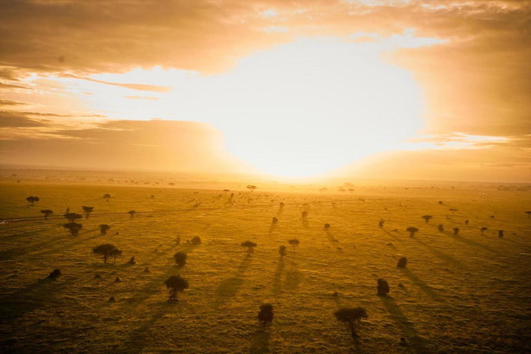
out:
M73 283L73 280L40 279L0 299L1 322L10 322L44 304L53 303L55 296Z

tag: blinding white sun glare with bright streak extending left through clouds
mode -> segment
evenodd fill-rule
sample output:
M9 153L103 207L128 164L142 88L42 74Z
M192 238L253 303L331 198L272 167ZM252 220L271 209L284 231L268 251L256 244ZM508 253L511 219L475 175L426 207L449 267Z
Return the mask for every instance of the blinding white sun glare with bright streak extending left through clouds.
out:
M381 54L380 42L300 39L254 53L219 75L161 68L93 75L171 86L144 93L150 100L129 100L120 87L76 84L97 86L95 109L127 119L208 122L223 131L227 151L261 171L314 176L393 149L420 128L418 85Z

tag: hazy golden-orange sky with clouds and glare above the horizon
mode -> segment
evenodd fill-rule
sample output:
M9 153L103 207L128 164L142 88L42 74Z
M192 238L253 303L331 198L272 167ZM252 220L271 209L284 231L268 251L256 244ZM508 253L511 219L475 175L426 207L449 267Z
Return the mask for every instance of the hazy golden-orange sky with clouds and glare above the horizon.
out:
M0 162L531 182L530 1L0 1Z

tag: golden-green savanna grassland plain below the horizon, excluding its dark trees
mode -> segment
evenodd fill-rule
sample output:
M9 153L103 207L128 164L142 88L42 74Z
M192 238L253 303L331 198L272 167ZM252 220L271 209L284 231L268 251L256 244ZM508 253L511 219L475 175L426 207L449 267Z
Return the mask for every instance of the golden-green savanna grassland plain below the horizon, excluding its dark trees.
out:
M39 202L30 206L28 196ZM304 194L259 186L225 194L4 180L0 201L3 353L531 351L530 192L357 187ZM82 213L82 205L94 211L71 236L62 214L66 207ZM45 221L41 209L55 214ZM425 223L425 214L434 218ZM108 234L100 224L111 226ZM414 237L410 226L420 229ZM186 243L193 236L201 245ZM300 241L295 252L288 239ZM251 257L241 247L246 240L257 243ZM91 254L101 243L122 256L104 264ZM283 260L279 245L288 246ZM173 258L178 251L188 254L183 268ZM396 266L402 256L405 269ZM62 276L47 279L55 268ZM175 302L164 285L173 274L189 281ZM376 295L378 278L389 282L388 297ZM265 328L257 320L264 303L274 306ZM355 306L369 318L353 339L333 313Z

